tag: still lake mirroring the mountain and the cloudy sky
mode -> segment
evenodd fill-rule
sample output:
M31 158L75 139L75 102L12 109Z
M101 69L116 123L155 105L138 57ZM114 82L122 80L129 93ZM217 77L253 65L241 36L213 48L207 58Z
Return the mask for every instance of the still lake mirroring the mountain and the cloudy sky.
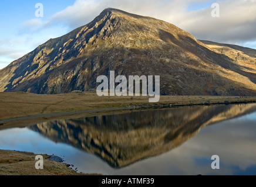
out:
M18 121L17 121L18 123ZM127 110L0 131L0 149L104 175L255 175L256 104ZM220 169L211 167L213 155Z

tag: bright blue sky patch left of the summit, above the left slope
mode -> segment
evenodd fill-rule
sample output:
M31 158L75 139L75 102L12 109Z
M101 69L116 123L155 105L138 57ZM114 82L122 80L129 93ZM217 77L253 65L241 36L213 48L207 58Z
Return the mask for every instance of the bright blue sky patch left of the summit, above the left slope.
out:
M47 22L56 12L62 11L75 1L40 1L43 4L43 18L36 18L35 0L0 1L0 69L32 51L50 37L65 34L64 26L33 30L26 27L29 20Z

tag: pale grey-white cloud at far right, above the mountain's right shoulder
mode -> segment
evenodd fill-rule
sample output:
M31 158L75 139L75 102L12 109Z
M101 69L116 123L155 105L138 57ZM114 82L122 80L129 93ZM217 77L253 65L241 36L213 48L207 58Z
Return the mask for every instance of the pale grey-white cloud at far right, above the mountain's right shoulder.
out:
M256 40L256 4L253 1L220 2L220 18L210 16L211 8L183 14L180 26L197 38L219 42Z

